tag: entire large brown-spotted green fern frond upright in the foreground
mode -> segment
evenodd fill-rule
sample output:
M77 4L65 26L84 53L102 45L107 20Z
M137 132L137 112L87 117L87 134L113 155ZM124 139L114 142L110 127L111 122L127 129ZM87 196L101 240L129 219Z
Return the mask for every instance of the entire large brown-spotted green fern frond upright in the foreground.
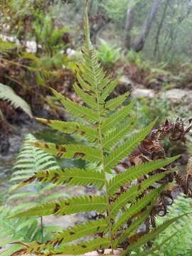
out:
M129 117L134 106L134 100L129 105L123 105L128 93L108 100L117 81L111 81L103 72L97 60L97 54L90 42L90 28L87 18L87 4L85 11L85 45L82 48L82 64L77 73L78 82L74 85L77 95L85 102L78 105L70 99L53 90L55 97L60 100L65 110L79 118L79 122L61 122L57 120L39 119L65 134L82 137L82 144L58 145L52 143L35 142L34 145L47 151L53 156L64 159L83 159L88 164L85 169L50 169L36 172L19 187L34 180L43 183L68 184L70 186L96 186L105 191L103 196L80 196L44 203L41 206L28 208L12 215L10 218L23 216L70 215L95 211L100 218L87 221L78 226L55 233L54 239L46 244L33 242L23 244L23 249L14 255L79 255L92 250L123 248L123 255L138 250L152 240L175 219L151 229L146 233L138 233L139 227L156 203L164 186L156 184L154 189L148 190L156 182L164 178L170 171L135 183L138 178L156 169L171 164L178 158L149 161L145 164L132 166L121 174L115 174L114 168L119 161L129 155L132 150L149 134L155 122L148 127L134 133L135 118ZM119 193L122 186L129 185L124 193ZM92 238L90 239L90 235ZM79 242L79 238L85 238ZM127 245L128 241L128 245ZM73 243L72 243L73 242Z

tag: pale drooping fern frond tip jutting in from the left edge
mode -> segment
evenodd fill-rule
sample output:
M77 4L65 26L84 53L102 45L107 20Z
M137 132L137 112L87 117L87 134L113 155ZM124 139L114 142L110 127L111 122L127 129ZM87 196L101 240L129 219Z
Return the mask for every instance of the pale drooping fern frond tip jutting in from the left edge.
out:
M0 83L0 99L1 100L6 100L7 102L10 103L12 107L17 109L18 107L21 108L24 112L26 112L30 117L33 116L31 113L31 108L29 107L28 103L23 100L21 97L16 95L14 90L12 90L11 87L7 85L3 85Z

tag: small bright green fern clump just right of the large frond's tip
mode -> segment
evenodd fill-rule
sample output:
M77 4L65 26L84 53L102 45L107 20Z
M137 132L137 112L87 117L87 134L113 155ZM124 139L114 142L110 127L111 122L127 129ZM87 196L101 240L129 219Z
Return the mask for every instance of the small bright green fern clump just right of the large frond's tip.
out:
M107 68L112 68L112 66L121 58L120 48L112 46L106 41L100 39L100 46L97 50L97 55L103 65Z

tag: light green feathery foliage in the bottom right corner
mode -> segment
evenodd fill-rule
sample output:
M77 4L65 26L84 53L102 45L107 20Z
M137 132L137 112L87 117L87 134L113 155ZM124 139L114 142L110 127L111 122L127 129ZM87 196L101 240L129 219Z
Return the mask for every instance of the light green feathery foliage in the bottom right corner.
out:
M169 213L164 218L158 218L157 224L161 225L165 220L176 218L184 213L191 213L192 201L191 198L186 198L180 194L174 201L173 206L169 206ZM169 239L170 238L170 239ZM191 255L191 214L178 218L174 225L164 230L159 238L154 241L154 248L161 245L161 251L154 250L152 255L158 256L190 256ZM151 255L151 254L147 254Z

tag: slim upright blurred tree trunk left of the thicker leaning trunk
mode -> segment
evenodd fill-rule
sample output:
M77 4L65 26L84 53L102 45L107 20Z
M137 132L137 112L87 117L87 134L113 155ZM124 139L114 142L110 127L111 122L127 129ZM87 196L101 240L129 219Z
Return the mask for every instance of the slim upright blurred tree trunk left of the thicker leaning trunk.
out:
M126 15L126 21L124 25L124 31L126 33L125 38L124 38L124 47L129 49L131 47L131 40L132 37L130 35L132 31L132 27L134 25L134 11L135 11L135 6L132 7L131 9L127 9L127 15Z

